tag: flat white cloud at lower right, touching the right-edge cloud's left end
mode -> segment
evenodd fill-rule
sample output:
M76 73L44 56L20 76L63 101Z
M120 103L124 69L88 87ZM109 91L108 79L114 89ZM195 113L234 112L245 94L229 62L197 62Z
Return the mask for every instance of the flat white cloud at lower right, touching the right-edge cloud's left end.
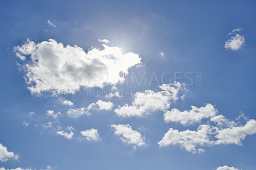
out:
M168 146L170 144L179 144L180 147L185 148L189 152L201 153L204 152L204 149L198 148L198 146L213 144L211 141L213 130L214 129L210 125L200 125L196 131L185 130L179 132L179 130L170 128L158 144L159 147Z

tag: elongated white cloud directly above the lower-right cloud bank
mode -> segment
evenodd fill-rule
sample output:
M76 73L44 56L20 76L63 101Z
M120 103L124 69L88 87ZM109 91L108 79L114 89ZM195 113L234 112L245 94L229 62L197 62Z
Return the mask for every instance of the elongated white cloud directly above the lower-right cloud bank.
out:
M218 112L212 104L206 104L204 107L191 106L190 111L179 111L172 109L164 113L165 122L179 122L181 125L199 123L202 119L211 118Z

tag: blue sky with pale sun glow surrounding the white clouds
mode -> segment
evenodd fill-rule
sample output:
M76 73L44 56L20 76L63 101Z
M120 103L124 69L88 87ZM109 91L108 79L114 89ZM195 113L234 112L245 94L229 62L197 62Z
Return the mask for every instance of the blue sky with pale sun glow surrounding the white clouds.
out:
M205 153L193 154L179 146L159 148L169 128L196 129L164 123L163 112L148 118L118 118L115 112L92 112L92 116L60 118L61 127L72 125L76 130L97 128L103 139L88 143L68 140L56 131L35 124L52 121L45 112L68 107L56 98L31 96L26 88L24 72L17 69L18 58L13 47L30 38L41 42L52 38L64 45L77 45L85 50L100 47L98 39L106 38L111 46L140 54L145 66L131 72L203 72L202 86L188 86L184 101L172 107L190 109L205 103L215 104L220 114L230 120L240 111L248 118L255 116L256 24L255 1L1 1L0 5L0 143L19 153L20 161L0 162L0 167L43 169L214 169L218 166L256 168L256 136L249 135L243 146L206 147ZM56 27L47 24L51 20ZM236 52L224 48L226 35L237 27L246 43ZM47 29L47 32L45 31ZM161 60L159 52L164 52ZM195 78L195 77L194 77ZM185 79L180 82L186 81ZM166 79L168 82L168 79ZM147 84L148 85L148 84ZM124 86L122 89L157 89L150 86ZM109 89L108 87L106 89ZM93 89L97 91L98 89ZM67 97L74 107L86 107L104 98ZM115 105L132 98L112 100ZM34 111L35 115L28 113ZM24 127L22 122L29 123ZM132 150L113 134L111 124L130 123L143 126L147 147Z

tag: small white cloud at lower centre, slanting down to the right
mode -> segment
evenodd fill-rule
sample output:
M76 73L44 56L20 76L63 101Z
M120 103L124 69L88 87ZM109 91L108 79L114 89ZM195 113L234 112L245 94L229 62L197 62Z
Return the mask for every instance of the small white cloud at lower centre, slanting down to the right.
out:
M141 134L132 130L131 125L111 125L111 127L115 128L115 135L120 135L120 139L125 144L133 145L134 149L138 146L145 146L145 137L141 137Z

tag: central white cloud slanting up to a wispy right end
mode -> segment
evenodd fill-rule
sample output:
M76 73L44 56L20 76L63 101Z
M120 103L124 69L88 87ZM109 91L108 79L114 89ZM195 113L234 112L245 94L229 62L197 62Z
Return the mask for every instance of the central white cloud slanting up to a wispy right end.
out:
M118 106L115 112L118 116L147 116L149 112L154 111L166 111L170 108L171 101L179 99L178 93L186 88L180 82L171 84L163 84L159 86L161 91L154 92L152 90L146 90L145 92L137 92L134 95L134 100L131 105L125 104L124 106Z

